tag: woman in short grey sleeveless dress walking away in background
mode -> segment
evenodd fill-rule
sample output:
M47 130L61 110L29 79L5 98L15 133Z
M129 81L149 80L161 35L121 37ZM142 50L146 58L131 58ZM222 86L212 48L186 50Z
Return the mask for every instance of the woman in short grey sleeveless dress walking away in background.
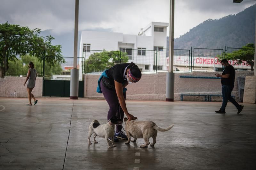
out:
M26 81L23 85L26 85L26 82L28 81L27 84L27 91L28 91L28 101L29 104L27 104L28 106L31 106L31 97L34 99L34 105L37 103L37 100L35 98L35 96L31 93L33 88L36 85L36 69L34 68L34 63L33 62L29 62L28 64L28 74L27 74L27 78Z

